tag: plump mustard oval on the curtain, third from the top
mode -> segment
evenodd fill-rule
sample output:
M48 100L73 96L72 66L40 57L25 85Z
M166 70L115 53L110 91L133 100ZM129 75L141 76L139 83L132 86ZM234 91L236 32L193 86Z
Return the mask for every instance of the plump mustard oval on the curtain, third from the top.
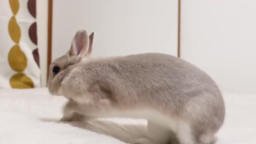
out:
M11 68L16 72L23 72L27 67L27 58L24 52L20 50L19 45L14 45L8 54L8 62Z

